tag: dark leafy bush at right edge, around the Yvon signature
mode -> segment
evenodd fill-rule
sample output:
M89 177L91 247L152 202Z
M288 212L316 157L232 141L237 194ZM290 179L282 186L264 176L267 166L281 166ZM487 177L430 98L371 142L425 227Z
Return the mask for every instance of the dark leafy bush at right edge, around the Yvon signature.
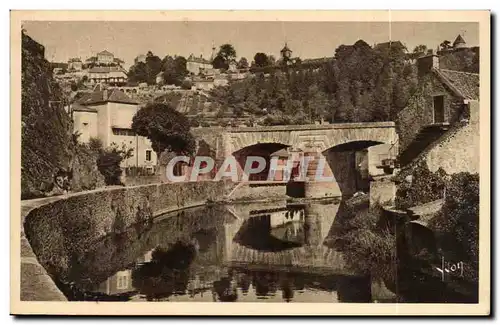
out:
M458 173L446 186L446 199L430 227L443 236L448 249L467 264L464 277L478 281L479 271L479 175Z

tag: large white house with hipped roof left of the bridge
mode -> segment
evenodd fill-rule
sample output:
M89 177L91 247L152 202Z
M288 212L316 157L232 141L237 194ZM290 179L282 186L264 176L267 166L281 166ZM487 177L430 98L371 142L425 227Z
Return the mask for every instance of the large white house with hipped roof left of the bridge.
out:
M132 148L133 156L122 167L153 167L157 158L151 142L132 130L132 118L138 110L138 103L121 90L101 89L97 85L92 93L72 105L74 130L81 134L82 142L98 138L104 147L114 143Z

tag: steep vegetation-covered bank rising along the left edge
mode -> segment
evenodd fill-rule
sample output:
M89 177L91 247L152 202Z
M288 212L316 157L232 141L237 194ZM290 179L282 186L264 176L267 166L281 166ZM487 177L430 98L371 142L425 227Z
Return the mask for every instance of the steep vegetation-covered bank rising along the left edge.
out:
M74 170L73 190L103 185L95 157L73 140L61 88L52 76L44 47L22 34L21 199L40 196L58 169Z

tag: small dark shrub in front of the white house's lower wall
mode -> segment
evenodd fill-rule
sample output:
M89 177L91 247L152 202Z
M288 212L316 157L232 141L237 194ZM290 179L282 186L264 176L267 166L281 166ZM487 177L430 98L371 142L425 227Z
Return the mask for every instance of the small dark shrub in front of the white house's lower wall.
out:
M101 150L97 159L97 167L104 176L106 185L123 185L120 177L122 176L121 162L132 157L133 149L119 148L112 145L110 148Z

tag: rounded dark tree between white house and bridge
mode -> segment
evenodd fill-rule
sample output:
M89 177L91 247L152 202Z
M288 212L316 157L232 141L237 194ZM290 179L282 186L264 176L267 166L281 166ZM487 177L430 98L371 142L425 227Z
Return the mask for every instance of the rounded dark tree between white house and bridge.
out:
M138 135L147 137L158 155L165 150L191 154L195 141L189 127L189 120L184 114L163 103L144 106L132 119L132 129Z

